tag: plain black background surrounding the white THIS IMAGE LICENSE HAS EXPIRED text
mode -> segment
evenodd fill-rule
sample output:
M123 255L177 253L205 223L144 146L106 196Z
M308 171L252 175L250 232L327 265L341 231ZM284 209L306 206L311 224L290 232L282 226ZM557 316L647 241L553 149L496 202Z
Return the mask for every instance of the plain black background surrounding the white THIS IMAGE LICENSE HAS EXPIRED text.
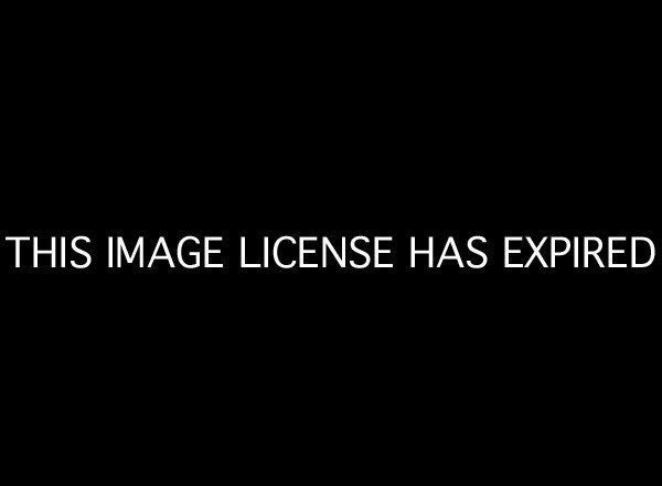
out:
M653 32L595 12L273 13L33 12L3 61L2 235L393 234L398 268L6 265L13 456L631 474L655 430L659 263L508 272L500 241L659 244ZM472 234L485 271L406 270L409 235Z

